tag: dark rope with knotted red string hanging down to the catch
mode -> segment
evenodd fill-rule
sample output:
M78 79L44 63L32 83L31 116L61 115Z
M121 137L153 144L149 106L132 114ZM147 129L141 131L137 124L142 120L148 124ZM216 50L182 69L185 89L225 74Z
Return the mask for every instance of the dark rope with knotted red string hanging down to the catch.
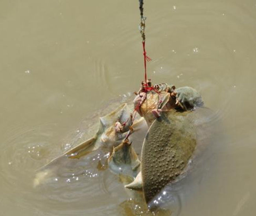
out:
M144 80L145 80L145 85L147 86L147 61L151 61L152 59L150 59L148 56L147 56L147 52L145 50L145 20L146 20L146 17L143 16L143 0L139 0L139 3L140 3L140 25L139 25L139 31L140 31L140 34L141 34L141 37L142 37L142 48L143 48L143 55L144 55L144 69L145 69L145 73L144 73Z

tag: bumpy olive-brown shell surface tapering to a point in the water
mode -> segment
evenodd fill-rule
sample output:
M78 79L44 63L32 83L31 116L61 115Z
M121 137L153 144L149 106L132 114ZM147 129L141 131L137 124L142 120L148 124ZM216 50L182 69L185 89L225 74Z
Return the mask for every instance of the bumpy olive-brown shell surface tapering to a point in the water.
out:
M142 146L141 171L145 200L149 203L168 183L177 179L193 155L197 110L162 112L149 128Z

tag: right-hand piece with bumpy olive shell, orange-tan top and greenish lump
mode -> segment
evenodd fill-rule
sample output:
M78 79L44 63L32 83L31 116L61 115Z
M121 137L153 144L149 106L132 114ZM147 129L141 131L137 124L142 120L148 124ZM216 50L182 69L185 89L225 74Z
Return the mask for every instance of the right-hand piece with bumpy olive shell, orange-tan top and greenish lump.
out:
M140 104L137 110L150 128L142 146L141 172L126 187L142 184L147 203L182 176L197 145L197 120L203 108L195 107L203 104L200 93L191 87L176 92L174 86L166 89L144 92L146 96L138 94L134 99L134 107Z

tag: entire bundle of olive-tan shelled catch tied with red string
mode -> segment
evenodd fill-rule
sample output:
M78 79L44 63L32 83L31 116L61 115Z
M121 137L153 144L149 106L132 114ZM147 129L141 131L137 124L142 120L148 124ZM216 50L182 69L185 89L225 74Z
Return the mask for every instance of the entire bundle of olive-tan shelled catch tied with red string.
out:
M197 145L199 109L187 110L202 104L201 95L191 87L175 90L174 86L166 86L165 90L139 92L134 99L134 109L150 126L142 146L141 163L127 135L132 125L139 126L144 119L133 124L131 112L122 104L100 118L94 137L53 159L41 171L56 163L64 165L70 159L79 159L98 148L113 150L108 159L109 168L116 174L131 177L123 181L128 183L126 188L143 189L145 201L149 203L166 184L182 176ZM38 176L44 175L41 172ZM35 185L38 183L36 178Z

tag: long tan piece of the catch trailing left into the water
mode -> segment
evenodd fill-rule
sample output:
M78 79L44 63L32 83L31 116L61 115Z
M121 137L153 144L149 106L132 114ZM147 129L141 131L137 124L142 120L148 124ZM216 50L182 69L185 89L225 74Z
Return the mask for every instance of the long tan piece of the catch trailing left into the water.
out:
M90 139L68 150L61 156L53 159L48 164L40 168L34 179L34 186L39 185L46 176L50 176L58 165L62 167L70 166L74 159L86 156L90 152L103 149L105 152L111 152L114 146L117 146L130 133L130 127L133 123L134 131L139 130L144 124L144 119L140 118L133 123L131 112L127 104L122 104L116 110L99 118L98 132Z

